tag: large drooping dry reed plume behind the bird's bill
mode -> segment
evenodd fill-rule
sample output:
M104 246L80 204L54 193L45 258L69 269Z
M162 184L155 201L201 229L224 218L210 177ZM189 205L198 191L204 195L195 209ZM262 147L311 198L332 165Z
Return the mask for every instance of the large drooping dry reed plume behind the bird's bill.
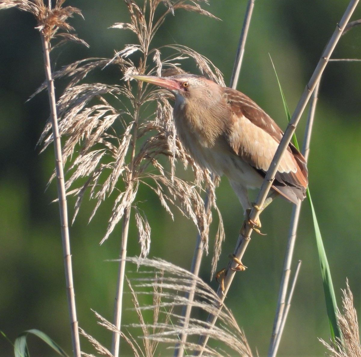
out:
M208 59L190 48L181 45L163 46L160 49L150 47L165 16L174 13L174 10L183 8L212 15L201 9L196 1L150 1L148 8L146 5L141 8L133 1L126 1L126 4L131 22L116 23L112 27L133 31L139 44L127 45L112 59L81 60L54 73L54 78L70 78L69 85L57 102L57 112L60 135L66 138L62 148L63 160L64 163L71 161L66 189L68 195L76 197L73 220L86 193L96 200L90 219L101 202L113 194L113 210L108 229L101 240L103 243L123 218L125 209L134 207L139 185L145 184L157 194L172 218L169 204L175 205L182 214L192 219L202 238L208 241L211 216L204 211L201 184L205 182L211 190L215 206L214 184L209 179L209 173L197 167L179 143L174 132L173 109L168 102L170 95L162 90L150 90L142 86L134 91L129 83L129 74L171 74L181 71L177 67L179 61L191 57L201 73L224 84L221 72ZM159 5L166 5L165 11L155 19L155 10ZM146 21L148 16L149 22ZM173 50L174 54L161 59L160 50L166 48ZM134 64L135 55L139 55L136 57L138 66ZM123 75L124 81L120 85L79 83L92 70L110 64L117 65ZM45 87L46 83L36 93ZM149 109L153 102L156 102L153 108L156 115L152 115L152 109ZM144 112L149 116L142 117ZM43 142L44 149L53 139L50 129L50 124L47 124L39 140L39 143ZM159 159L161 155L169 158L168 170ZM184 167L192 166L195 182L187 182L175 176L175 159L182 162ZM86 179L86 182L76 187L77 182L81 181L78 179ZM134 211L139 237L143 242L141 256L144 257L149 251L150 227L144 212ZM222 232L222 228L219 232Z

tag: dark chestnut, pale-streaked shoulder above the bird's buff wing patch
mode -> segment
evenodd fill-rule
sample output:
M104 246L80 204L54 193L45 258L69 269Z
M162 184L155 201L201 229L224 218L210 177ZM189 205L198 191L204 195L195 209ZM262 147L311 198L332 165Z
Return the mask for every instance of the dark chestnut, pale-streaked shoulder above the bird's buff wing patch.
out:
M244 117L268 133L275 141L279 142L282 139L283 132L276 122L247 95L225 87L223 98L229 106L233 118Z

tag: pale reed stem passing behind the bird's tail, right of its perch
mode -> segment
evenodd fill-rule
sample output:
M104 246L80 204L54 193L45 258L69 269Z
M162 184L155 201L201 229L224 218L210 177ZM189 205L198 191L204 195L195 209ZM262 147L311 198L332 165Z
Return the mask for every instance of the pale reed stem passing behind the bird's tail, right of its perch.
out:
M312 93L312 97L310 100L310 108L308 111L307 117L307 124L305 130L305 136L303 140L303 147L302 147L302 154L308 160L309 156L309 149L310 149L310 141L311 141L311 133L314 121L314 114L316 111L317 99L318 99L318 90L319 90L319 83L317 82L316 88ZM296 232L297 226L299 222L301 211L301 205L293 205L292 208L292 215L291 215L291 224L290 224L290 232L288 233L288 240L287 240L287 248L286 254L284 257L284 266L283 266L283 274L280 283L280 290L277 302L277 309L275 314L275 321L273 325L272 337L270 341L270 347L268 352L268 357L274 357L277 353L277 347L280 340L280 326L282 321L284 320L284 306L286 304L286 294L288 290L288 283L290 280L291 275L291 263L292 263L292 256L296 242ZM278 342L277 342L278 340ZM277 346L277 347L276 347Z

